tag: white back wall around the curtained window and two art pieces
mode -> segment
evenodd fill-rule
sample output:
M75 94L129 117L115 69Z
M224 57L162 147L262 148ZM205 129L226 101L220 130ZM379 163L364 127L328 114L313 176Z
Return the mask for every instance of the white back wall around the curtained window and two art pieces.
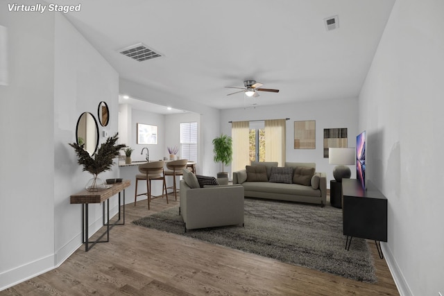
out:
M323 137L325 128L347 128L348 146L356 146L359 133L357 98L335 101L313 101L284 105L257 106L250 108L229 109L221 111L221 132L231 135L229 121L253 121L264 119L285 119L287 121L287 162L316 162L316 171L327 173L327 187L334 180L334 166L323 157ZM316 121L316 149L294 149L294 121ZM231 168L228 168L229 170ZM350 166L352 177L356 177L354 166Z

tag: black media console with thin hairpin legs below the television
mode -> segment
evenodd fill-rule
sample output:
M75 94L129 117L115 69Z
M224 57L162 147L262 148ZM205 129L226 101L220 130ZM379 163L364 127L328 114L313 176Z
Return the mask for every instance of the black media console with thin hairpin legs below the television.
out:
M364 190L356 179L342 180L343 234L350 249L353 236L374 240L384 258L380 241L387 241L387 199L371 182ZM350 236L350 241L348 240Z

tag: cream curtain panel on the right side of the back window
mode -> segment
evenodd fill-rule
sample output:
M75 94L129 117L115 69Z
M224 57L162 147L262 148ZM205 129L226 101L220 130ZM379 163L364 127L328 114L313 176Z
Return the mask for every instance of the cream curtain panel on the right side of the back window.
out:
M265 121L265 161L285 164L286 120L272 119Z

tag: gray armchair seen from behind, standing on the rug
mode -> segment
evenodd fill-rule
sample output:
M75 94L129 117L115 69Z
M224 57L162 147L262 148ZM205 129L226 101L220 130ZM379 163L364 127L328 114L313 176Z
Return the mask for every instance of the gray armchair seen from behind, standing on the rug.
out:
M180 215L187 229L244 225L244 187L241 185L190 188L180 181Z

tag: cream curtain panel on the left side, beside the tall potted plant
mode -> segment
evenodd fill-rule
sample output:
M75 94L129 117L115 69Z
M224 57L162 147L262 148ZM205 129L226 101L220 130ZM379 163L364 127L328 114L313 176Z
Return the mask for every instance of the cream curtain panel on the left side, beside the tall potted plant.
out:
M233 161L231 170L240 171L250 164L250 143L248 133L250 123L248 121L236 121L231 125L231 137L233 140Z

